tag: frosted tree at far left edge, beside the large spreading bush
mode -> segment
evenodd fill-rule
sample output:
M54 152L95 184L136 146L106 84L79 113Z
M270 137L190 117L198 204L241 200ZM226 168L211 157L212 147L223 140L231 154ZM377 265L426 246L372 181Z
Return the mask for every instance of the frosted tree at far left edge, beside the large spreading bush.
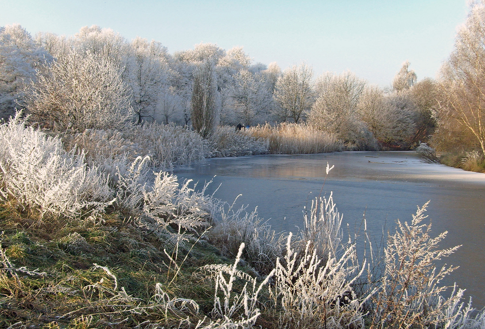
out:
M20 25L0 27L0 119L15 114L16 100L52 57Z

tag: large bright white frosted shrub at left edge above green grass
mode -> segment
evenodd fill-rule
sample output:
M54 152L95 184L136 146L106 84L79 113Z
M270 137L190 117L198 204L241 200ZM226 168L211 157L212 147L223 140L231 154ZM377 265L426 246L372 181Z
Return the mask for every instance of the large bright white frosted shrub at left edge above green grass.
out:
M74 217L113 202L106 177L85 164L83 152L65 151L60 139L26 127L20 116L0 126L3 194L38 209L41 217Z

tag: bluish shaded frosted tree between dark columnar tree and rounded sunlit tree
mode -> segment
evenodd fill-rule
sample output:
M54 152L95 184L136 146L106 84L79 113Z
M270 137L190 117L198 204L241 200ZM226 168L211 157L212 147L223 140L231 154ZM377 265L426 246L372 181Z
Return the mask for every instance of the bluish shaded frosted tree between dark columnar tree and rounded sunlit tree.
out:
M272 102L271 93L266 88L264 77L248 70L241 70L234 80L229 97L235 113L243 123L252 125L266 114Z

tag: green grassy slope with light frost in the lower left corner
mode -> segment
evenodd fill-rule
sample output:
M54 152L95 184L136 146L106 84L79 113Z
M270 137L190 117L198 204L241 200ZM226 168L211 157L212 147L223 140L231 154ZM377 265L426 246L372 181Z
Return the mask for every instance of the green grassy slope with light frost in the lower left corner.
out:
M147 320L165 328L177 327L186 313L165 314L161 307L150 308L156 284L169 296L197 300L200 314L196 318L203 318L212 309L214 290L197 274L198 269L229 262L215 247L199 240L174 279L174 265L164 253L173 255L174 246L115 213L99 222L41 221L3 204L0 226L0 266L10 261L15 269L45 272L28 275L0 270L0 328L17 322L31 328L133 328ZM178 266L193 243L179 249ZM117 289L113 277L93 264L110 269ZM131 299L117 300L121 287ZM131 310L137 307L146 310L140 314Z

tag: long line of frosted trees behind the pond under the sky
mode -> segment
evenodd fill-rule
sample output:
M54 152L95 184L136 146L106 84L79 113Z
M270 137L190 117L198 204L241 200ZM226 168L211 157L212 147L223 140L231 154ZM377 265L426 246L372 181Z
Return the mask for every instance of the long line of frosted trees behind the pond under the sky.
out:
M127 41L97 26L32 38L14 25L0 38L2 116L22 107L55 130L175 122L207 138L218 125L307 122L348 150L401 150L433 129L426 102L433 82L417 83L408 62L382 90L351 72L315 79L305 63L283 72L275 62L252 63L241 47L199 44L169 54L159 42Z

